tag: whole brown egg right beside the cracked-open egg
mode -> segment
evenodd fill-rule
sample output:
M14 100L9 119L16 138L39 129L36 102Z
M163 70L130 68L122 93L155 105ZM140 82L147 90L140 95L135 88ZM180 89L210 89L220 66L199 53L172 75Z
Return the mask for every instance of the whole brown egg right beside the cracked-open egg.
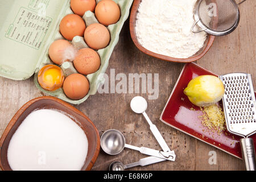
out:
M80 100L88 94L90 88L89 81L84 75L75 73L69 75L64 80L63 90L68 98Z

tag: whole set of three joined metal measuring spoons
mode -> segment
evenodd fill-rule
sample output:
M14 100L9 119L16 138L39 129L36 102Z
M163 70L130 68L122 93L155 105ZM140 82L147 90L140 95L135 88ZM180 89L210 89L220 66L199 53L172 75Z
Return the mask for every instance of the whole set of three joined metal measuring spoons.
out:
M171 151L165 142L164 138L160 134L157 127L150 121L150 118L146 114L147 101L140 96L134 97L130 103L131 110L137 114L143 114L144 118L150 125L150 130L156 140L158 141L162 150L154 150L147 147L136 147L126 144L125 137L118 130L108 130L101 135L101 148L109 155L117 155L123 151L124 148L130 148L132 150L137 150L142 154L150 155L147 158L140 159L138 162L124 165L121 162L113 162L110 164L110 171L123 171L127 168L135 166L147 166L154 163L163 162L165 160L175 161L176 155L174 151Z

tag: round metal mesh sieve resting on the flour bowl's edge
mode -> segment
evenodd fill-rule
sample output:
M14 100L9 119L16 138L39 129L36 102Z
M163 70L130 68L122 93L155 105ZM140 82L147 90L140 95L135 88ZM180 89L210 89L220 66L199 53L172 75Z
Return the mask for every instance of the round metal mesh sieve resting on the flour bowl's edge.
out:
M192 32L205 31L210 35L222 36L233 32L240 22L238 5L234 0L200 0L194 9L196 23ZM201 28L195 30L196 24Z

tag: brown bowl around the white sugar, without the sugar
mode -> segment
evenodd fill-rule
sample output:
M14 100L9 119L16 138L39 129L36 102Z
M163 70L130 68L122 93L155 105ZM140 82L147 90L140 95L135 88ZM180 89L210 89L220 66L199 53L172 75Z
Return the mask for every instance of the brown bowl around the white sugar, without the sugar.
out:
M7 149L9 142L22 121L35 109L57 109L75 118L71 119L76 122L82 130L84 130L86 137L88 138L88 154L86 156L84 166L81 168L81 171L89 171L93 167L93 164L95 163L100 152L100 135L98 134L98 130L92 121L90 121L86 115L82 114L81 111L55 97L39 97L31 100L23 105L11 119L0 139L1 169L5 171L11 171L7 160Z

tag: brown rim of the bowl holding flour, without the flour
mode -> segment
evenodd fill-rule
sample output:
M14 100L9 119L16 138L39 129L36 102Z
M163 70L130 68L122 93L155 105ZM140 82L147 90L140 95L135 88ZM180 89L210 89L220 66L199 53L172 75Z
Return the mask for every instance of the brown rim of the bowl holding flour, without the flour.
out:
M172 61L172 62L177 62L177 63L191 63L193 61L199 60L201 57L209 51L210 47L213 44L214 41L214 36L208 35L207 40L205 40L204 47L201 48L195 55L185 58L185 59L179 59L175 57L170 57L170 56L164 56L164 55L159 55L158 53L154 53L151 51L148 51L148 49L144 48L141 46L141 44L138 42L137 35L135 32L135 24L136 24L136 18L137 18L137 13L138 13L138 8L139 4L141 3L142 0L134 0L133 2L133 7L131 9L131 15L130 15L130 33L131 33L131 39L133 39L133 42L135 46L142 52L146 53L147 55L150 55L152 57L162 59L165 61Z

